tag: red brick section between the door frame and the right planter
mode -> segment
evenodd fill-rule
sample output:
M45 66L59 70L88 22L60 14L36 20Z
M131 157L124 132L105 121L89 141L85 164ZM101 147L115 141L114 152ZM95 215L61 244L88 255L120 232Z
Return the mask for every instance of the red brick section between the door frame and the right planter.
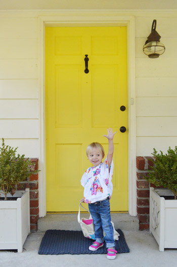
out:
M137 157L137 216L139 229L149 229L149 182L144 176L150 171L153 162L152 157Z

